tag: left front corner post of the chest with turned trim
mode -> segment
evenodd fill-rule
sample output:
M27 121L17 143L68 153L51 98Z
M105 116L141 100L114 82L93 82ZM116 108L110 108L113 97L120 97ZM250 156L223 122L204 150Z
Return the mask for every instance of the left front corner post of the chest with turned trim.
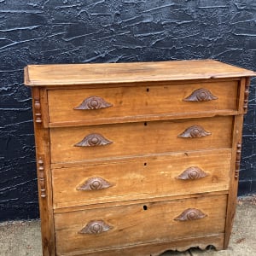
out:
M45 106L47 98L44 88L32 89L32 106L38 168L38 200L41 218L42 246L44 256L55 255L55 231L52 209L52 188L49 155L49 130L44 129L47 119ZM38 121L40 120L40 121Z

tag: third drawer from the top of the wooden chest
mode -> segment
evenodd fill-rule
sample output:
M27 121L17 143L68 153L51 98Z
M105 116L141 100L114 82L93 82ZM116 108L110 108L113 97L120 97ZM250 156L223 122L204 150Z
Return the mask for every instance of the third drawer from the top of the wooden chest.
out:
M228 190L231 151L52 170L54 207Z

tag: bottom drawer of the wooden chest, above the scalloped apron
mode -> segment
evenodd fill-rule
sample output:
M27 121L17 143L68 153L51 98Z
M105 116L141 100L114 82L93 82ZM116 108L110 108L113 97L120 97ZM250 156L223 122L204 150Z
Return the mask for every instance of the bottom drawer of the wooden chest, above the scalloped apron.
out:
M227 195L55 213L57 255L224 233ZM195 244L196 246L196 244Z

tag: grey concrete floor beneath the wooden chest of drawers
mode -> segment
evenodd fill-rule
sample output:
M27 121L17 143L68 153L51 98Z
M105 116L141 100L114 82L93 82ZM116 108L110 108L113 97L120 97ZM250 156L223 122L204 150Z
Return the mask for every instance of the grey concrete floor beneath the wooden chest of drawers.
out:
M42 256L40 222L15 221L0 224L1 256ZM256 255L256 195L240 198L236 207L228 250L216 252L214 249L201 251L189 249L186 252L166 252L161 256L254 256ZM136 255L131 255L136 256Z

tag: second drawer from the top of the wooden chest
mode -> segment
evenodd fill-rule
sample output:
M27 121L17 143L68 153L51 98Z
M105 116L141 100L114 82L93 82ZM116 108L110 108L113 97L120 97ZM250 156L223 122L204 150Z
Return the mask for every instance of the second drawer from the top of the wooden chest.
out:
M233 117L227 116L52 128L50 129L51 162L204 148L230 148L232 124Z

